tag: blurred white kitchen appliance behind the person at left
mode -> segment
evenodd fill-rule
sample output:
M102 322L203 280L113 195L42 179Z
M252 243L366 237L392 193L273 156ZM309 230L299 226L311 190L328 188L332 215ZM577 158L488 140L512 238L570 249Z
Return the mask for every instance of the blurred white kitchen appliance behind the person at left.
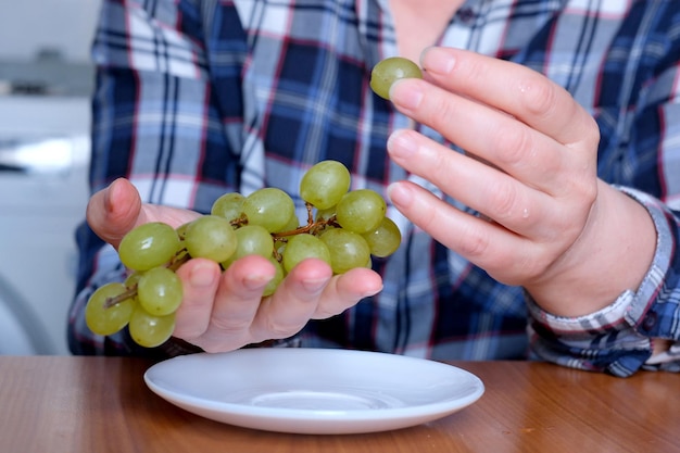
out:
M0 97L0 353L68 352L88 129L87 98ZM25 341L9 334L12 324L33 348L20 347Z

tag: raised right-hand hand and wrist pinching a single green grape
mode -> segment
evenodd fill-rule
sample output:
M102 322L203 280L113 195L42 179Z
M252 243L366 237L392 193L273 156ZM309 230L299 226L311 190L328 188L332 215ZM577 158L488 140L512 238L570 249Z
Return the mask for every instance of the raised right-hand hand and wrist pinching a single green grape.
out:
M454 209L423 188L390 197L416 225L545 310L591 313L635 289L655 247L646 211L597 179L599 128L571 96L524 66L432 48L425 79L404 79L391 100L461 154L413 130L395 131L395 163L478 211Z

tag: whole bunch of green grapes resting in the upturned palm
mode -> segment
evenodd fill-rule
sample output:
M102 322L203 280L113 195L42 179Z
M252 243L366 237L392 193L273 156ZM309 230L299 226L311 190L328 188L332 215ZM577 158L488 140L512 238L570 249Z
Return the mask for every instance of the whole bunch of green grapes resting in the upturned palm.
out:
M191 257L209 259L227 269L242 256L265 256L276 276L264 297L308 257L325 261L333 274L370 267L372 255L389 256L399 248L401 234L386 216L387 205L379 193L350 190L350 173L339 162L312 166L300 181L307 216L302 225L291 197L269 187L248 197L225 193L209 215L179 228L159 222L136 227L118 248L129 277L92 293L85 312L88 327L106 336L127 326L131 338L147 348L165 342L182 300L175 270Z

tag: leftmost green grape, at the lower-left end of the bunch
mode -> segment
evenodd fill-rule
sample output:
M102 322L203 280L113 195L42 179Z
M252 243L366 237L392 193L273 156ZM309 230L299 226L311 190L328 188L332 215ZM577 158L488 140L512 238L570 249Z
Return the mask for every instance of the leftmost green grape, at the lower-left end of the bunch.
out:
M125 299L115 305L105 306L109 299L125 291L124 284L111 282L99 287L90 295L85 307L85 323L91 331L97 335L113 335L127 325L135 310L134 299Z

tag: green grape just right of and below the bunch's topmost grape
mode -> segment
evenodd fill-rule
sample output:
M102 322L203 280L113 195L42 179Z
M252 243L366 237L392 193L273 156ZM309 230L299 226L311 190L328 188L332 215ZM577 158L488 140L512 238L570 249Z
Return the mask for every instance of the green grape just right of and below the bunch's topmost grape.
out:
M378 192L360 189L342 197L336 210L336 217L342 228L363 234L378 228L386 211L385 199Z

